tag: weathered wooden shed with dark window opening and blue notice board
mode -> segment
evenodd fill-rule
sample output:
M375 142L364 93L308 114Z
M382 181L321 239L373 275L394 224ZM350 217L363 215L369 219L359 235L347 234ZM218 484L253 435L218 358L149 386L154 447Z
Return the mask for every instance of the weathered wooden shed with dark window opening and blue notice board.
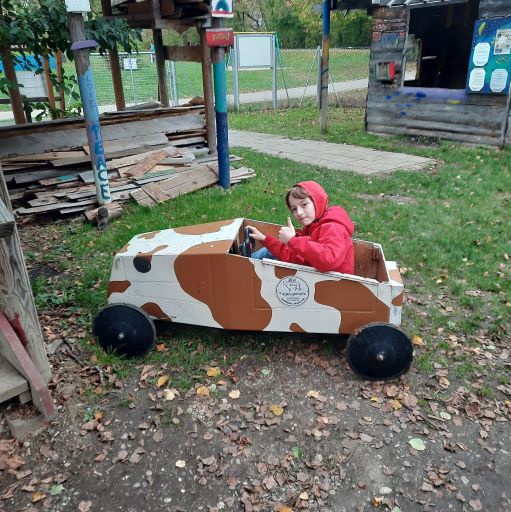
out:
M511 0L373 0L366 129L511 143Z

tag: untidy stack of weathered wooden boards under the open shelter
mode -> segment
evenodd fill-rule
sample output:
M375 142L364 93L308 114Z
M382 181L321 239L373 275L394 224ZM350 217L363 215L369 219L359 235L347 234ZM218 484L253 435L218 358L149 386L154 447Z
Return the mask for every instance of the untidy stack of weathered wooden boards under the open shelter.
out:
M205 146L203 106L105 115L101 131L114 202L153 206L217 183L216 156ZM86 211L95 216L96 189L83 120L0 128L0 158L20 215ZM231 157L231 161L241 159ZM231 183L255 173L231 169ZM115 208L115 205L113 206Z

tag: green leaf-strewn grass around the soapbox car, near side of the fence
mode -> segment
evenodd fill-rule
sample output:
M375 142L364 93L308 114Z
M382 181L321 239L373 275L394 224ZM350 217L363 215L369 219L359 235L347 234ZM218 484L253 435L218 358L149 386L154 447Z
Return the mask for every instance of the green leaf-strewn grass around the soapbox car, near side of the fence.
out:
M76 304L91 320L106 303L112 256L132 236L238 216L282 223L288 215L285 190L298 181L314 179L327 189L332 204L350 212L358 238L383 244L387 258L402 267L409 296L420 299L419 305L405 307L403 317L405 330L425 342L415 361L419 371L431 374L435 363L455 365L456 376L467 379L477 370L464 355L451 355L447 341L451 334L463 343L477 344L480 335L496 342L509 340L509 148L497 151L451 142L421 147L404 137L377 137L364 132L359 110L331 109L325 137L313 108L232 114L229 122L237 129L403 151L435 158L438 165L429 172L367 177L236 149L234 153L244 157L243 164L255 169L257 178L227 192L208 188L152 209L128 205L123 217L99 235L89 224L76 226L73 232L62 225L51 227L62 241L49 249L45 259L61 275L34 281L38 305ZM371 199L382 194L384 198L399 194L414 202ZM275 346L291 344L296 338L171 326L171 334L163 333L162 339L169 350L154 351L145 361L167 362L175 369L172 385L189 388L203 379L203 368L213 359L225 368L243 354L264 357ZM335 352L328 343L324 350L325 354ZM112 357L97 354L100 362ZM124 369L136 363L117 362Z

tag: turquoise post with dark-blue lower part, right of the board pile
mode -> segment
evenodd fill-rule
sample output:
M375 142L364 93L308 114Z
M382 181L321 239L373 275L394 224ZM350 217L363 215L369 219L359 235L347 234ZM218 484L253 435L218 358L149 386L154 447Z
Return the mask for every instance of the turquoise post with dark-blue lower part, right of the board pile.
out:
M227 125L227 78L225 50L218 49L218 59L213 64L215 82L216 149L218 152L218 175L220 186L228 189L231 184L229 171L229 131Z

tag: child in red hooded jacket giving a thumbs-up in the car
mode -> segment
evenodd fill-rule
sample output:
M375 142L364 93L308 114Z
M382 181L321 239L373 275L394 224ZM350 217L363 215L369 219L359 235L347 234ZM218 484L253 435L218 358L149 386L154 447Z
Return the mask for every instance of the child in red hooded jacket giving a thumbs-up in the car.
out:
M279 231L279 239L264 235L257 228L250 236L259 240L264 248L252 258L273 258L314 267L320 272L355 271L353 222L340 206L328 207L325 189L315 181L302 181L291 187L286 204L303 229L295 230L288 217L287 226Z

